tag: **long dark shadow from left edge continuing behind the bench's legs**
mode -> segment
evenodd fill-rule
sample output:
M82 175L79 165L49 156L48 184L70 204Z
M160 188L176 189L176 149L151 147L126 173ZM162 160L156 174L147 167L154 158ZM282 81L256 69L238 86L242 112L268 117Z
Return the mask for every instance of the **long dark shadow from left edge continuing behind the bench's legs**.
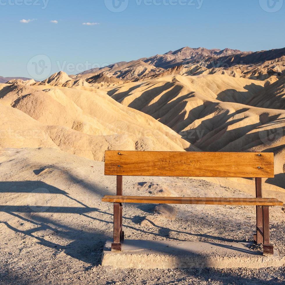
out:
M74 227L64 225L63 223L59 221L55 221L51 219L50 217L44 217L42 214L40 215L39 213L66 213L66 214L79 214L82 216L85 216L86 218L90 218L92 220L97 220L99 222L105 223L105 224L113 224L113 213L108 213L106 211L101 211L100 209L96 207L89 207L86 206L84 203L81 201L76 200L75 198L71 197L66 191L58 189L54 186L48 185L42 181L10 181L10 182L0 182L0 193L4 192L10 192L10 193L29 193L31 192L31 189L34 189L33 191L37 192L38 188L45 188L49 190L49 193L52 194L61 194L69 199L76 201L80 206L75 206L75 207L70 207L70 206L29 206L29 205L0 205L0 211L1 212L6 212L10 215L13 215L20 220L23 220L25 222L29 222L33 225L36 225L36 228L30 229L23 231L21 229L17 229L10 225L6 221L2 221L1 223L5 224L6 227L9 229L13 230L14 232L17 233L22 233L24 235L31 236L33 238L36 238L38 240L38 243L51 247L51 248L57 248L57 249L62 249L65 250L65 253L82 261L85 261L86 263L94 264L94 256L83 256L82 253L84 252L83 248L84 247L99 247L103 248L104 241L108 238L106 234L103 233L103 231L92 231L87 232L82 229L75 229ZM39 192L40 193L40 192ZM152 205L153 207L153 205ZM36 211L35 211L36 210ZM110 216L110 219L104 220L99 217L94 217L91 216L90 213L98 213L98 214L106 214ZM32 214L32 215L31 215ZM29 215L29 218L26 218L25 215ZM138 218L138 217L137 217ZM124 220L133 220L134 218L128 218L123 216ZM151 221L150 221L151 222ZM50 226L52 225L52 226ZM156 225L155 225L156 226ZM192 234L186 231L179 231L175 229L169 229L165 227L159 227L158 233L153 233L151 231L147 231L145 229L138 229L136 227L132 227L130 225L124 225L125 228L129 228L134 231L140 231L145 234L151 234L153 236L161 236L163 234L164 236L167 236L170 231L175 231L177 233L182 233L182 234L187 234L187 235L193 235L193 236L200 236L200 237L208 237L213 240L218 240L218 241L233 241L229 240L226 238L220 238L217 236L209 236L209 235L204 235L204 234ZM156 226L158 227L158 226ZM60 228L62 230L58 230L57 228ZM59 244L52 243L50 241L45 240L42 237L38 237L35 235L37 231L41 230L46 230L49 229L53 231L54 233L63 236L65 238L70 238L73 237L74 241L70 243L70 245L67 246L61 246ZM180 240L179 238L171 238L173 240L177 241L183 241ZM84 242L86 241L86 243ZM91 241L91 242L90 242ZM80 250L81 249L81 250ZM80 251L78 253L78 251ZM91 252L92 250L90 250ZM97 263L99 261L96 261ZM96 264L95 262L95 264Z

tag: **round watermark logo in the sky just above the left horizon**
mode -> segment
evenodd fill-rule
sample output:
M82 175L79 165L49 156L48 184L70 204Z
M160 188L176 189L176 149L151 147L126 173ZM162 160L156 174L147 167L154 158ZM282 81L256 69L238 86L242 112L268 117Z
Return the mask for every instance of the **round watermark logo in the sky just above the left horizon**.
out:
M50 58L44 54L32 57L27 64L27 71L35 80L46 79L51 72Z

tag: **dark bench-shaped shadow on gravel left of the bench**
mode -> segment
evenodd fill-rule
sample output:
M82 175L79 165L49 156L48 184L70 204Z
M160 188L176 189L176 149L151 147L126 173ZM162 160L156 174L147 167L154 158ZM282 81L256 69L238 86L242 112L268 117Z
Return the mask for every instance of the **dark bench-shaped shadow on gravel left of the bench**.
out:
M42 189L47 190L47 192L42 192ZM94 189L94 188L93 188ZM103 192L103 190L102 190ZM11 225L9 222L1 218L0 223L4 224L10 230L15 233L23 234L35 238L36 243L43 245L45 247L50 247L56 250L64 250L64 252L81 261L91 264L92 266L98 265L101 262L100 256L108 236L100 230L92 229L87 231L84 229L84 224L82 228L75 228L71 225L66 225L64 222L51 218L52 215L46 215L46 213L63 213L63 214L74 214L83 215L84 213L105 213L98 208L89 207L82 203L81 201L71 197L69 193L42 181L7 181L0 182L0 195L1 193L49 193L49 194L60 194L68 199L75 201L79 206L47 206L47 205L0 205L0 212L8 213L9 215L22 220L23 222L28 222L33 225L32 229L22 230L21 224L19 227ZM24 196L23 196L24 197ZM26 195L25 195L26 197ZM23 202L25 203L25 202ZM111 215L111 214L110 214ZM110 221L102 220L97 218L98 221L105 224L109 224ZM72 221L72 215L70 217ZM63 237L66 240L72 240L67 245L60 245L59 243L54 243L48 241L46 238L40 236L38 231L49 230L52 234Z

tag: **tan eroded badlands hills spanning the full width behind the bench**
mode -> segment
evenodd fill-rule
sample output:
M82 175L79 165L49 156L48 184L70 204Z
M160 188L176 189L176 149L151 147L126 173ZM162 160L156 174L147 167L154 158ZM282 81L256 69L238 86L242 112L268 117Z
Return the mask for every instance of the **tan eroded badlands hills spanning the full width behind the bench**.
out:
M181 58L182 52L173 53ZM0 84L0 146L56 148L97 161L104 161L107 149L274 152L275 178L265 179L264 189L283 195L282 58L215 70L186 63L137 78L145 61L115 64L112 74L108 68L97 75L58 72L42 82ZM120 75L125 66L135 79ZM280 72L272 74L272 68ZM266 76L257 76L257 69ZM247 179L209 180L253 185Z

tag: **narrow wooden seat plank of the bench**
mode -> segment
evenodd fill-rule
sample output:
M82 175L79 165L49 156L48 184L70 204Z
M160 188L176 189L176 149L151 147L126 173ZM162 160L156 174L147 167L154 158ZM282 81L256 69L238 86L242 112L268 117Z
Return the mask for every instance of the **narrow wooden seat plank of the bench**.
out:
M282 206L275 198L217 198L217 197L149 197L149 196L104 196L103 202L149 203L149 204L205 204L205 205L254 205Z

